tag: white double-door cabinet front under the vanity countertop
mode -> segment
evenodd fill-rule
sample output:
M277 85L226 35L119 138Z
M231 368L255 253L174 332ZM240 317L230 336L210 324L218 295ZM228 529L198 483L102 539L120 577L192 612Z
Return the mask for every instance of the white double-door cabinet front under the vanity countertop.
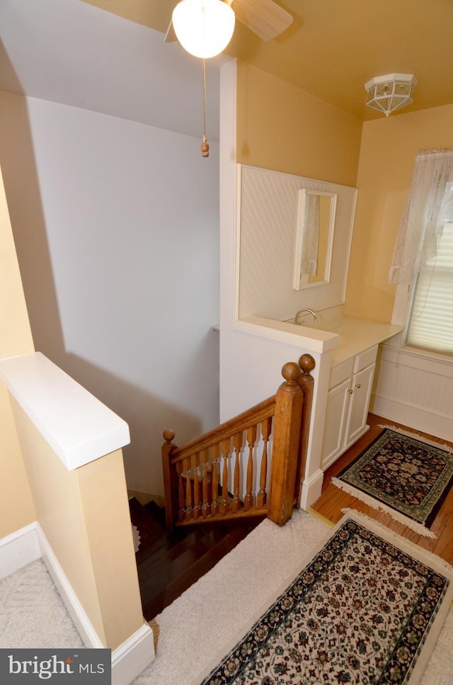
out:
M331 370L324 424L321 468L331 465L367 430L377 345Z

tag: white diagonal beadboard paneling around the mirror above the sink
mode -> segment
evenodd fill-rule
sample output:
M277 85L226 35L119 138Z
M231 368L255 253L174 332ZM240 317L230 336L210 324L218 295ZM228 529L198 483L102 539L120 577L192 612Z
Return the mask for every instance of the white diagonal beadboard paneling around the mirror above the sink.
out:
M239 165L239 318L287 319L302 307L323 310L345 298L357 189ZM301 188L337 193L331 280L292 288Z

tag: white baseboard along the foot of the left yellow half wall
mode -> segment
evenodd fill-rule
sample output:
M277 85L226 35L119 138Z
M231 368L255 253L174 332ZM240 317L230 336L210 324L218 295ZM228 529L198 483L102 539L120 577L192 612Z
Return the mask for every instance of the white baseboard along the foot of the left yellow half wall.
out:
M0 540L0 577L42 558L86 647L103 648L74 589L37 521ZM130 683L154 660L154 637L147 623L112 652L112 684Z

